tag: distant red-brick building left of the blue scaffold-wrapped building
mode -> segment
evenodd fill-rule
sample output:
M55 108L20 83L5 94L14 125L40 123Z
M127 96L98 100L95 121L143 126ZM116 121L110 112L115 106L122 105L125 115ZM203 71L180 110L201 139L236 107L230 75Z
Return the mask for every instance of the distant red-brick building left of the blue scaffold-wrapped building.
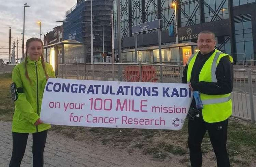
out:
M63 41L63 26L56 26L44 35L44 46Z

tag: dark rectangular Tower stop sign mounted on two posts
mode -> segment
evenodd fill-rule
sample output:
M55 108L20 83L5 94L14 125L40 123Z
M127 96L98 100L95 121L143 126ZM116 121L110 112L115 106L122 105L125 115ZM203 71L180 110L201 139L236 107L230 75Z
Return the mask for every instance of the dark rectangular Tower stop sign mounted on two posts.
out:
M132 34L160 28L160 19L132 26Z

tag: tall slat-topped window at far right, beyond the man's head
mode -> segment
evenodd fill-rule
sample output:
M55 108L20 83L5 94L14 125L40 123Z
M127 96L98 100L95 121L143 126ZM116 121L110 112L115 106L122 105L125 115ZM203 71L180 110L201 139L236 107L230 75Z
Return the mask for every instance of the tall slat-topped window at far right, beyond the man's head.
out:
M251 15L234 17L237 60L251 60L253 57L253 38Z

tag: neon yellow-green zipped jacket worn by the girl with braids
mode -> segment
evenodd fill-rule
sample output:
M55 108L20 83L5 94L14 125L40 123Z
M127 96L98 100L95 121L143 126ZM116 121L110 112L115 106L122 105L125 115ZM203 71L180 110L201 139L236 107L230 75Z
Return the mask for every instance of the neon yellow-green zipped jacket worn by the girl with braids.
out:
M45 63L49 77L55 77L53 68ZM12 132L35 133L51 128L50 124L40 124L35 126L41 110L44 87L47 82L45 72L41 63L27 59L27 70L31 83L25 75L25 62L15 66L12 72L12 80L17 88L22 88L23 93L18 93L15 101L15 111L13 115Z

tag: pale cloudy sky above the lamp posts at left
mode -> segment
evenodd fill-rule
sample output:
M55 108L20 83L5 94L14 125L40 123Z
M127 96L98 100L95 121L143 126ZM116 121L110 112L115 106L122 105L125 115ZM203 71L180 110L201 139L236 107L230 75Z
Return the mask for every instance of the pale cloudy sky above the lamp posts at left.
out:
M0 0L0 57L4 59L9 57L9 27L12 28L11 37L15 37L16 43L19 37L19 47L22 44L24 3L30 6L25 8L26 42L26 39L30 37L39 38L38 21L41 21L41 39L43 40L44 34L62 24L55 21L65 19L65 12L76 2L77 0ZM11 43L13 43L13 38ZM21 49L19 50L20 56Z

